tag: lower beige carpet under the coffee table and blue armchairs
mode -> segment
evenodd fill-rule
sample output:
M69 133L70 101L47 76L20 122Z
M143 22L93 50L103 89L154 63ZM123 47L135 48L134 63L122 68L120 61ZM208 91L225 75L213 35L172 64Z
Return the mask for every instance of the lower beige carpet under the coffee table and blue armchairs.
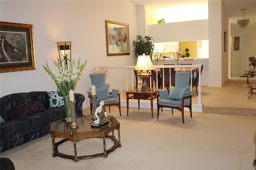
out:
M84 110L88 114L89 109ZM182 124L180 112L160 113L151 118L150 110L131 108L122 117L118 108L111 113L120 122L121 148L108 158L74 162L52 157L50 135L1 153L10 158L16 170L250 170L255 158L253 135L256 117L185 113ZM117 136L117 131L115 131ZM107 141L107 149L112 142ZM73 154L73 143L65 142L59 150ZM100 138L77 142L78 156L103 152Z

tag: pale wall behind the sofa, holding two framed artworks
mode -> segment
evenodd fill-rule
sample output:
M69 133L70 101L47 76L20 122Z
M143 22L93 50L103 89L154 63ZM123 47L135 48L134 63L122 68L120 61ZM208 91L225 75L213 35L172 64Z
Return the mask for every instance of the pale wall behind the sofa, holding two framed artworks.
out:
M130 1L0 1L0 20L33 24L36 70L0 74L0 96L30 91L55 91L56 85L43 69L58 57L55 42L72 41L72 57L87 60L75 92L85 95L89 107L90 68L135 65L132 41L137 36L136 6ZM106 56L105 20L129 24L130 55ZM56 71L56 69L55 69Z

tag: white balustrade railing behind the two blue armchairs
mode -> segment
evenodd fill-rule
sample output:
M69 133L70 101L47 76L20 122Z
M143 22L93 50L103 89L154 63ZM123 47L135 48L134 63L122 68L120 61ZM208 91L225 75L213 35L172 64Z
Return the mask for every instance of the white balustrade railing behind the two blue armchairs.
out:
M134 86L136 84L134 67L135 66L105 67L106 69L108 69L108 74L109 74L106 79L106 83L110 85L110 89L119 89L120 90L119 93L120 93L120 98L121 98L121 106L123 106L123 107L126 107L126 93L125 92L128 89L132 89L132 86ZM193 77L192 68L198 68L199 73L201 72L201 65L154 65L154 67L156 69L156 75L160 74L160 68L175 68L176 70L180 69L180 68L190 68L190 72L191 72L190 82L192 82L192 77ZM96 67L96 69L98 69L98 67ZM171 71L169 71L169 73L171 73ZM163 71L163 75L164 75L164 71ZM164 78L164 76L162 78ZM138 77L138 80L140 80L139 77ZM152 78L150 78L150 86L151 86L152 81L153 81ZM160 80L158 80L158 76L156 76L156 83L155 83L156 89L161 88L161 87L158 87L158 81L160 81ZM171 79L170 79L170 81L171 81ZM164 82L164 80L163 80L163 82ZM152 88L152 87L150 87L150 88ZM164 88L164 84L162 85L162 88ZM190 83L190 89L192 90L192 83ZM192 99L195 99L195 98L196 97L194 97L194 98L192 97ZM156 105L156 101L154 103ZM201 74L199 74L199 78L198 78L197 104L192 104L192 111L202 112Z

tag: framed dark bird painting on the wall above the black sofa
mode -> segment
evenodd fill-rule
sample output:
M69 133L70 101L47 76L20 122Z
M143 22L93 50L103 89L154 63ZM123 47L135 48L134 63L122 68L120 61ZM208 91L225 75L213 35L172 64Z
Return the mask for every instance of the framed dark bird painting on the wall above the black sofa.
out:
M36 69L33 25L0 22L1 73Z

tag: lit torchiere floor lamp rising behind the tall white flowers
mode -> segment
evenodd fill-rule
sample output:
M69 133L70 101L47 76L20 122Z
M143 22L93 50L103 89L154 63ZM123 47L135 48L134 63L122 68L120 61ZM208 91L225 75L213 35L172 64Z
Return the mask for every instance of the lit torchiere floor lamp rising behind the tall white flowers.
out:
M68 61L71 61L71 43L72 42L56 42L58 46L59 51L59 57L60 53L64 57L64 59L60 58L60 65L62 66L62 61L64 60L65 65L68 69ZM70 58L68 59L68 54L70 53Z

